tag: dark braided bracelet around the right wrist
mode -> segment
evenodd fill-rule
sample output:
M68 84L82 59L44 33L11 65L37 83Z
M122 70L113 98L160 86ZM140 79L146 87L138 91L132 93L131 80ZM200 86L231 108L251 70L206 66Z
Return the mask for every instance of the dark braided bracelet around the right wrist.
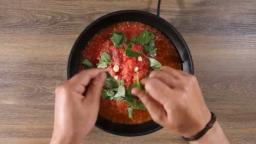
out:
M197 134L191 136L190 138L185 138L184 136L182 136L182 138L185 141L196 141L196 140L200 139L209 129L212 128L213 124L216 121L216 118L217 118L217 116L213 112L211 112L211 120L205 126L205 128L203 128L201 131L199 131Z

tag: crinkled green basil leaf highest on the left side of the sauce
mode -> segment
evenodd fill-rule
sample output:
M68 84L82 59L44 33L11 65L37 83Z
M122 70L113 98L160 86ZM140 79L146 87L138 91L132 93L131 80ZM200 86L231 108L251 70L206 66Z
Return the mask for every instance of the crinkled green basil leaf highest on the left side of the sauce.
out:
M113 32L110 40L114 43L115 47L123 48L122 44L127 41L125 34L122 32Z

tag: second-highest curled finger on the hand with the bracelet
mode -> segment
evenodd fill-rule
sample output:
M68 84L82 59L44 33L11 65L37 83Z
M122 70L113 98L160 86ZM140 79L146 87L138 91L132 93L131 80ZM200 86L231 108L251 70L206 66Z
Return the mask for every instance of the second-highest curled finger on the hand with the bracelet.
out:
M149 75L149 78L157 78L158 80L165 83L171 88L180 85L179 81L176 78L174 78L172 75L169 75L164 71L152 71Z

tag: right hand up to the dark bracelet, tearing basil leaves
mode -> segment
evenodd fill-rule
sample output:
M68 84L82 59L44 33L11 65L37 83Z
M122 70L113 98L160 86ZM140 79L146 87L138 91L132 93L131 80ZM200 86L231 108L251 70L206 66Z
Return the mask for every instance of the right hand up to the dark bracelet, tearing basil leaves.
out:
M148 94L132 89L146 106L153 120L189 138L211 119L197 79L181 70L163 66L142 80Z

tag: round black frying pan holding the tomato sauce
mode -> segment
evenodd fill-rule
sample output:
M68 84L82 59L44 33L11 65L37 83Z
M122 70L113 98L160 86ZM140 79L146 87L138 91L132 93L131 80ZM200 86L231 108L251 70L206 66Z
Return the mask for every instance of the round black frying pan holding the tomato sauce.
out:
M123 10L109 13L96 19L83 30L71 49L68 60L67 79L69 80L77 73L81 52L88 41L101 29L121 21L138 21L162 31L175 45L175 48L181 57L183 71L194 74L193 61L186 42L170 23L159 17L159 9L160 1L158 3L158 16L145 11ZM140 136L155 132L162 128L153 120L142 124L125 125L113 123L101 116L98 116L96 126L106 132L121 136Z

